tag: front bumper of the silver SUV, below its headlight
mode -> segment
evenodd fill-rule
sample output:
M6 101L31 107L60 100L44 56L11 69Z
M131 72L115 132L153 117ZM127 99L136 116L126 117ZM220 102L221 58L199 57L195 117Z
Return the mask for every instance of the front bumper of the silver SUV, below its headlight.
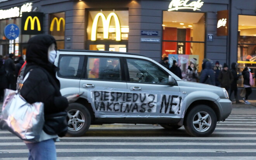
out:
M228 98L218 98L214 102L220 109L220 119L225 120L232 112L232 102Z

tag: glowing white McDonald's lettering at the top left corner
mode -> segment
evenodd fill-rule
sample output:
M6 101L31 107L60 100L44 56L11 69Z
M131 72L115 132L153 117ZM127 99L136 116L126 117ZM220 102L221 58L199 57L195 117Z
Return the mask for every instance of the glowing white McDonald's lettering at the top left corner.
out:
M22 12L31 12L33 3L26 3L19 7L13 7L7 10L0 10L0 19L22 17Z

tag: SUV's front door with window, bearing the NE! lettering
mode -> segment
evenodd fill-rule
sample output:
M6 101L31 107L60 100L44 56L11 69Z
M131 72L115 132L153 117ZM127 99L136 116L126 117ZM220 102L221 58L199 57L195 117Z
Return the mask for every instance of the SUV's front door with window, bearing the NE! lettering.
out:
M182 117L184 95L168 83L169 73L145 59L126 58L127 88L137 93L138 114L149 117ZM185 106L185 105L184 105Z

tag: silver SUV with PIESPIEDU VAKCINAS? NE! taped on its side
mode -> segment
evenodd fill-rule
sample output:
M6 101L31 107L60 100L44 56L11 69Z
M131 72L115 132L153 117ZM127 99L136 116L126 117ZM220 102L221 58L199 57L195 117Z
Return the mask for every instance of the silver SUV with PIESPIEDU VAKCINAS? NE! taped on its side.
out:
M224 88L182 81L143 55L58 50L55 65L62 95L84 92L67 108L67 136L112 123L184 125L191 136L209 136L232 111Z

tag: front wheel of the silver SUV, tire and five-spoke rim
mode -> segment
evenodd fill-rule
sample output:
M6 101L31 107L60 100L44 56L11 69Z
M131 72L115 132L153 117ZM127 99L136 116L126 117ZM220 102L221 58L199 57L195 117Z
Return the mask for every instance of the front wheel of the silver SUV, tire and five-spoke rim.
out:
M207 105L197 105L187 113L184 127L190 136L206 137L214 131L217 118L214 110Z

